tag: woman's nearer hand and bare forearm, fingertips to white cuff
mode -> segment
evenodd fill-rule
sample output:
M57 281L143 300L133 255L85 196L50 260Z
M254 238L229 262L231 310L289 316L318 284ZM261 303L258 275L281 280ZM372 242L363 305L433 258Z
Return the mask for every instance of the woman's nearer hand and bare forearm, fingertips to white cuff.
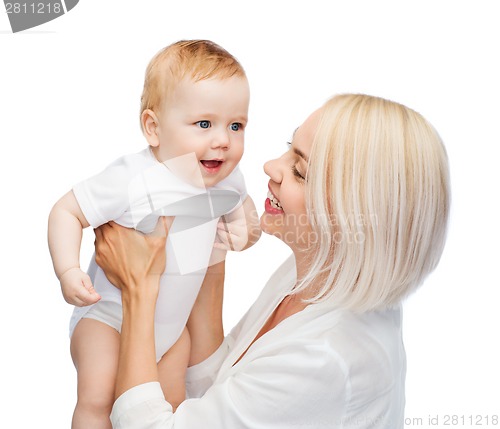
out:
M160 278L165 271L167 233L165 218L159 220L150 235L114 222L95 230L97 265L122 291L116 397L134 386L158 381L154 317Z

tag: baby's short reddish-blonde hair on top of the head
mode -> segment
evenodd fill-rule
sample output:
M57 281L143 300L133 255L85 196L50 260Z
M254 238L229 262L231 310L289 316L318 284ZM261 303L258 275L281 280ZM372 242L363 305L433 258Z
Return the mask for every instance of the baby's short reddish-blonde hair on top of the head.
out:
M159 111L184 78L245 77L241 64L229 52L210 40L181 40L158 52L150 61L141 96L141 115L146 109ZM142 121L141 121L142 128Z

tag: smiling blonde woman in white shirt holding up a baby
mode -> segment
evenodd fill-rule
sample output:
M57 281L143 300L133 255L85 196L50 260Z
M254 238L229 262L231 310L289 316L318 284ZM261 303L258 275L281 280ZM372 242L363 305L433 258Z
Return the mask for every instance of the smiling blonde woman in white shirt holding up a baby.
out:
M437 265L449 213L439 136L400 104L340 95L264 171L262 229L293 254L225 339L224 266L211 267L188 324L191 399L175 414L153 346L165 237L96 232L124 302L114 427L403 427L400 303Z

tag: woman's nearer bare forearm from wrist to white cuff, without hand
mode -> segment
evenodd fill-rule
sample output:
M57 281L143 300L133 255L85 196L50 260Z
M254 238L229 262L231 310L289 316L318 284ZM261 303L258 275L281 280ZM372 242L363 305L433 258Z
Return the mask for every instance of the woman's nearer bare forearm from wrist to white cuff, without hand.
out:
M146 280L158 282L157 277ZM123 322L115 398L132 387L158 381L154 340L155 285L145 284L133 296L122 294Z

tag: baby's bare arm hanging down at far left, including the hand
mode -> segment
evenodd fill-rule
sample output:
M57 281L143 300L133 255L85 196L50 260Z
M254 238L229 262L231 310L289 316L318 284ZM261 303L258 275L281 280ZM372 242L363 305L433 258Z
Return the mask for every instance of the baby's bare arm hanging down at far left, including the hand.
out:
M48 240L54 271L64 299L79 307L101 299L90 277L80 269L82 230L88 226L73 191L64 195L49 215Z

